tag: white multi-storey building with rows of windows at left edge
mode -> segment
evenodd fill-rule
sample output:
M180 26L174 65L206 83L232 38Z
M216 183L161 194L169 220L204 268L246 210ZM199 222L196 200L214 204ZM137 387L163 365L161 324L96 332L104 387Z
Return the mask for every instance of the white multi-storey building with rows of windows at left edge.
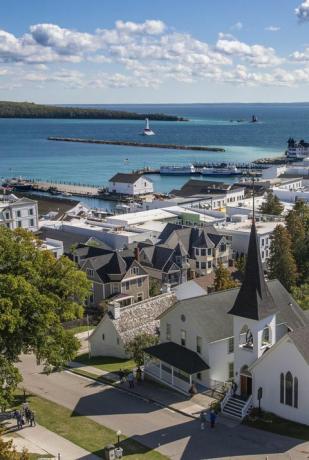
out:
M38 230L38 203L30 198L3 196L0 201L0 225L14 230L25 228L32 232Z

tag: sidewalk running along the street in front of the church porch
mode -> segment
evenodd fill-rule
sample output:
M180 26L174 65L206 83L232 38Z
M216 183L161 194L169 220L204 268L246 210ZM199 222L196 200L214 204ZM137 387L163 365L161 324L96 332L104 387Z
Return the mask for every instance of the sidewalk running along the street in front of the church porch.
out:
M149 380L145 380L139 385L135 383L134 388L129 388L127 382L119 382L117 374L103 371L94 366L85 366L79 362L71 362L69 363L69 367L93 374L94 378L95 376L102 377L122 391L135 394L147 401L154 402L192 418L199 418L200 412L207 409L213 401L216 401L216 399L203 394L198 394L196 397L186 397L181 393L177 393L172 389L165 388L163 385Z

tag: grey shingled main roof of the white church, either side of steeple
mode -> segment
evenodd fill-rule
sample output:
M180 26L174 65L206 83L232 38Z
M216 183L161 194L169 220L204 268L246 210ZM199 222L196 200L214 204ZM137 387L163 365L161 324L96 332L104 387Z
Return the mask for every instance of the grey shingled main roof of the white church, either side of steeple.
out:
M267 286L277 307L277 324L285 323L292 330L309 325L309 316L298 306L280 281L268 281ZM181 300L171 309L183 307L187 318L190 317L203 328L208 341L215 342L234 335L233 319L228 312L238 292L239 289L235 288Z

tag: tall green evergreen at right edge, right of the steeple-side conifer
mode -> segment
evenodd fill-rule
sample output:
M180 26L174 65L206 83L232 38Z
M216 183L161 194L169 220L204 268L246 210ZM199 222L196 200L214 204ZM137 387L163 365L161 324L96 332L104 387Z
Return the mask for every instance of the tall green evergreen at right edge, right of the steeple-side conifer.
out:
M309 207L302 201L285 218L286 228L292 241L292 251L296 261L299 282L309 281Z

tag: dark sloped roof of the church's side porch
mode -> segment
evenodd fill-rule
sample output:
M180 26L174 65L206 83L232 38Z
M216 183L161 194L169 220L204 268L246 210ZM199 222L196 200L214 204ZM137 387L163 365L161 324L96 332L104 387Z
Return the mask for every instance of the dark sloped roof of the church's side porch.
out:
M145 352L190 375L209 369L208 364L195 351L174 342L159 343L145 348Z

